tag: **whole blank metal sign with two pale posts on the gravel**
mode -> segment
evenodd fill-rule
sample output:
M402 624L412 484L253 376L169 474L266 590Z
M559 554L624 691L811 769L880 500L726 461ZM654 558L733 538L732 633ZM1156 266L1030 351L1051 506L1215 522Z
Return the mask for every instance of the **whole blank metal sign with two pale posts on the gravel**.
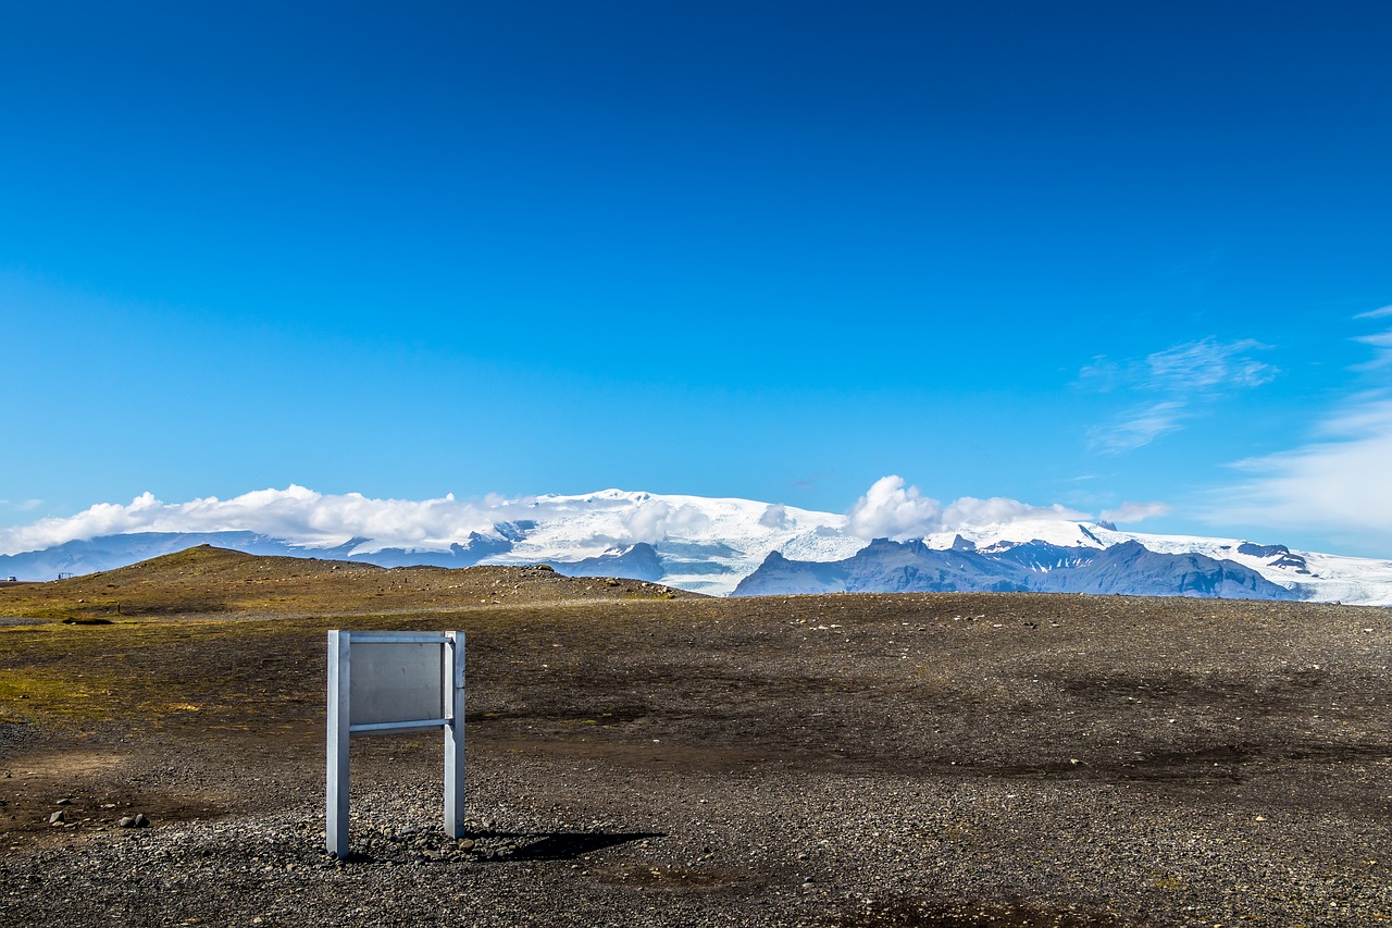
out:
M354 647L361 665L354 687ZM429 645L438 647L438 677ZM438 701L436 701L438 695ZM438 706L438 708L436 708ZM444 729L444 829L464 835L464 633L329 631L324 847L348 857L348 743L359 734Z

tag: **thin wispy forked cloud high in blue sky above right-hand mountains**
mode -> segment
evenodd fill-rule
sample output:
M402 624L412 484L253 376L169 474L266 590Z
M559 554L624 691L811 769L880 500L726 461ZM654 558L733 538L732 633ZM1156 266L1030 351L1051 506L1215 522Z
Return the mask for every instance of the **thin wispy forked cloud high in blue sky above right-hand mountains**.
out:
M1089 444L1111 454L1136 450L1179 431L1185 419L1224 396L1271 383L1278 371L1251 355L1267 347L1251 339L1210 337L1155 351L1140 361L1093 358L1093 364L1079 371L1080 385L1104 393L1125 389L1160 399L1133 407L1114 422L1093 426Z

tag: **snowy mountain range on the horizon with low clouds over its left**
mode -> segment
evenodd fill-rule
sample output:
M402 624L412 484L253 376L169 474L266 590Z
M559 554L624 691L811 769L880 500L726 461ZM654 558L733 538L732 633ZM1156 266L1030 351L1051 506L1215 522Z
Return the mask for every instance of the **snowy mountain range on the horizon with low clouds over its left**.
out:
M1126 532L1061 510L983 506L1004 517L871 543L856 511L617 489L406 503L292 486L226 502L166 506L141 497L129 507L96 509L68 520L74 525L54 521L29 535L0 536L10 548L0 555L0 580L110 570L210 543L383 566L548 563L567 574L633 577L713 595L1043 589L1392 605L1388 560ZM15 549L46 538L54 543Z

